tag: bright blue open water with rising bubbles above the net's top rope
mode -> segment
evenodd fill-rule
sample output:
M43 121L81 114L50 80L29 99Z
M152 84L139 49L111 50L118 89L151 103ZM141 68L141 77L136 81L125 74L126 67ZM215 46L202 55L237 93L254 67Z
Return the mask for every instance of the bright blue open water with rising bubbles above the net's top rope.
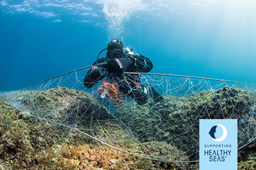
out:
M150 73L256 84L255 6L253 0L0 0L0 91L91 66L111 39L152 60Z

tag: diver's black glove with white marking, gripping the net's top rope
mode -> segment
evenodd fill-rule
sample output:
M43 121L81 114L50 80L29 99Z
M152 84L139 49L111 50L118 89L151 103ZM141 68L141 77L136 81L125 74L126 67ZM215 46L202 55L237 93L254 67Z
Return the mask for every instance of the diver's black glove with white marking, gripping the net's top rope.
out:
M107 62L106 67L108 68L109 72L114 73L123 73L128 67L131 67L134 65L134 61L130 58L124 58L124 59L111 59L109 62Z

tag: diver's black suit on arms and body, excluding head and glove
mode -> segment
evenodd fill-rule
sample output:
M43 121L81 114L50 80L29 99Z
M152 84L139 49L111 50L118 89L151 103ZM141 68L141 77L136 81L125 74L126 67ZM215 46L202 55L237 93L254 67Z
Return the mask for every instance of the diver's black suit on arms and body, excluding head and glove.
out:
M125 71L134 73L148 73L152 68L152 62L143 55L130 55L127 58L133 60L134 64L128 67ZM102 58L97 60L94 64L100 64L102 62L108 62L109 59ZM102 64L104 66L104 64ZM118 84L119 90L127 97L132 97L138 104L143 105L147 103L148 88L140 83L139 74L116 74L108 73L105 75L105 68L102 66L93 66L86 76L84 76L84 87L92 88L99 80L102 80L105 76L111 76L112 80L115 80Z

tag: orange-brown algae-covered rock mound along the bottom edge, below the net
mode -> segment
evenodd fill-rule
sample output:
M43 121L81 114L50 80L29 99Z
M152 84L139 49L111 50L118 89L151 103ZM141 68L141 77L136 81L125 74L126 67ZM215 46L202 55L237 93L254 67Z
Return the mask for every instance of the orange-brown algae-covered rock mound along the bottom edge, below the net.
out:
M145 145L150 145L147 143ZM140 148L141 146L131 146ZM166 148L154 148L154 152L164 152ZM97 145L54 145L37 155L38 162L54 169L189 169L190 163L160 162L137 157L108 146ZM186 158L184 158L186 159ZM47 160L51 160L48 162ZM41 165L42 166L42 165Z

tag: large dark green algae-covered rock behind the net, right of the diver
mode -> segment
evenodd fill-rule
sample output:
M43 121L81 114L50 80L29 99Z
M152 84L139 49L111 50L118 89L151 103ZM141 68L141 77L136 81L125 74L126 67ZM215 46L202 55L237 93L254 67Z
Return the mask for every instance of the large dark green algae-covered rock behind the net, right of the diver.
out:
M164 96L161 103L138 106L132 102L115 116L138 136L141 142L165 141L198 160L199 120L238 119L239 147L255 135L255 94L249 90L223 87L184 97ZM250 125L250 129L248 129Z

